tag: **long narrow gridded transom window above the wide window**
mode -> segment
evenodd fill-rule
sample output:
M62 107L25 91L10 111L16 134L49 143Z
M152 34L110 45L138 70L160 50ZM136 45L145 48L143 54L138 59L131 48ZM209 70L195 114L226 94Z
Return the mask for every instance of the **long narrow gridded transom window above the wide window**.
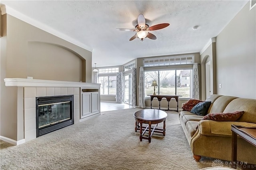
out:
M144 67L165 66L165 65L185 65L194 63L194 55L180 55L170 57L158 57L143 59Z

